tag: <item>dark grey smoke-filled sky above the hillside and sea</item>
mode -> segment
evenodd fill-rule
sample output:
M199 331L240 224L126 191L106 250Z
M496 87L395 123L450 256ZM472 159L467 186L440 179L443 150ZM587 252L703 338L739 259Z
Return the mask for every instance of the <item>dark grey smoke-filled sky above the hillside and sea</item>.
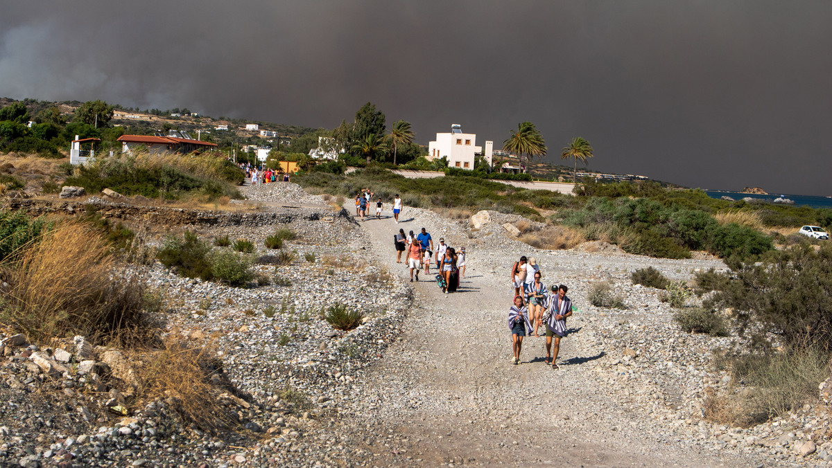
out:
M365 102L559 162L832 195L832 2L7 1L0 96L333 128Z

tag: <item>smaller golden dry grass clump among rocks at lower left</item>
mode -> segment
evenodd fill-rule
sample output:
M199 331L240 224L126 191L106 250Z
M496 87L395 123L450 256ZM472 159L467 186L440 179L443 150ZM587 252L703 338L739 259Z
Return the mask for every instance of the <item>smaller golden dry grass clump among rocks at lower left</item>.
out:
M146 353L146 365L139 372L138 396L161 399L186 423L204 431L220 431L237 425L233 408L220 401L228 387L222 363L215 357L213 343L196 347L170 333L161 349Z

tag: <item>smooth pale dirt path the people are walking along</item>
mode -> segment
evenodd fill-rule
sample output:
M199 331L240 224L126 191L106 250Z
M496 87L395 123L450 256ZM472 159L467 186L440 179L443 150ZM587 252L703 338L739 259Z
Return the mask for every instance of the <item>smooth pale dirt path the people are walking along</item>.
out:
M346 206L350 209L350 206ZM421 221L361 223L376 259L408 278L396 264L392 236L418 232ZM431 226L428 225L428 231ZM438 235L433 234L434 241ZM527 337L522 364L511 362L503 269L476 268L458 293L443 294L429 278L414 283L418 308L399 342L370 372L363 392L372 404L356 411L367 431L374 466L506 464L531 466L745 466L748 460L691 450L643 429L646 415L629 412L602 392L586 314L569 323L559 371L543 364L543 337ZM508 268L508 266L507 266ZM505 273L505 274L503 274ZM569 275L565 273L565 280ZM580 274L580 273L578 273ZM379 446L379 435L398 434ZM376 438L374 438L376 437ZM393 436L391 436L393 437ZM371 445L375 441L374 445ZM394 448L398 447L398 448Z

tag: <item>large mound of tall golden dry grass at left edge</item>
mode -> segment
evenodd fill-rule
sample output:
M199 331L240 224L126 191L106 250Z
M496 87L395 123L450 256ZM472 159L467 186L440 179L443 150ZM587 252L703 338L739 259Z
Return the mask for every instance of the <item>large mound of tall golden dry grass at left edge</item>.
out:
M92 340L151 337L145 286L117 271L109 252L87 225L62 224L44 234L17 261L2 265L9 287L0 318L33 340L71 333Z

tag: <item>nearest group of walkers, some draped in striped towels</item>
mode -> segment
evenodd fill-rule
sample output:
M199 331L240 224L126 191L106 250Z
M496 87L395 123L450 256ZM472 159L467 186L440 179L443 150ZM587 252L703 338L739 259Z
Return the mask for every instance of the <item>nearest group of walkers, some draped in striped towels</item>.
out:
M522 340L526 336L539 337L545 328L546 358L544 362L557 369L557 353L561 338L567 335L567 318L572 316L572 300L567 297L566 284L542 283L542 272L534 258L520 257L511 270L514 300L508 310L508 329L512 333L513 362L520 363ZM533 333L533 335L532 335Z

